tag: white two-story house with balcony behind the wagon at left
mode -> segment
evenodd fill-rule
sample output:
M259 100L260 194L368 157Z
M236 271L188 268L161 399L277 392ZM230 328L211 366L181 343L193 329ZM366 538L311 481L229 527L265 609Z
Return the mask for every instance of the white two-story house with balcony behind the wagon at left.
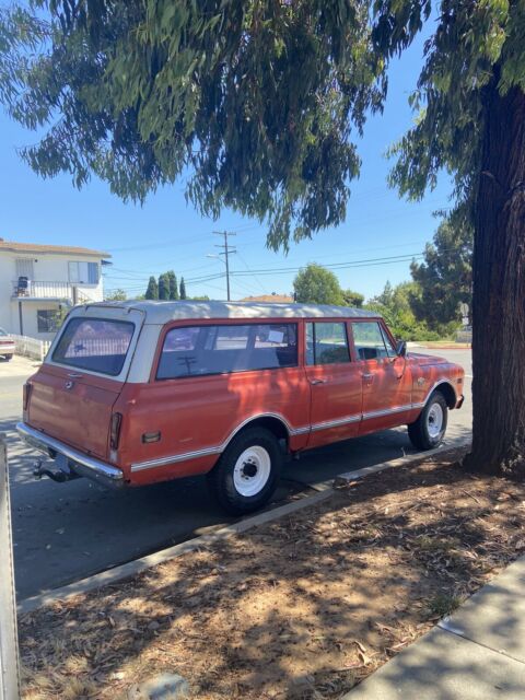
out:
M102 250L0 238L0 327L50 340L57 311L104 298Z

